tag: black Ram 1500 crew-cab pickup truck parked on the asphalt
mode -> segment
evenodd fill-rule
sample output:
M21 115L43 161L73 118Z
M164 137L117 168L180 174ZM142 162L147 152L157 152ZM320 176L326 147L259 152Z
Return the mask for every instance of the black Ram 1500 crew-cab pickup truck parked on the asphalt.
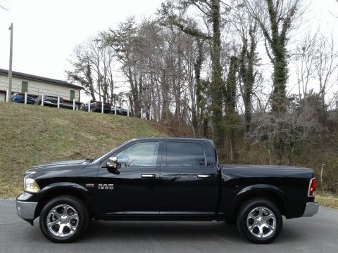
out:
M91 219L228 221L251 242L277 238L286 219L313 216L312 169L220 165L212 141L142 138L96 160L25 172L18 216L53 242L79 238Z

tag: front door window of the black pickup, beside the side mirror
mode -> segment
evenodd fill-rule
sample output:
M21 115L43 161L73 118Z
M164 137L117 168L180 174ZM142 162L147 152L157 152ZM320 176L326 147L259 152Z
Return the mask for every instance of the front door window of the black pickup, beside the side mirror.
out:
M154 167L158 154L158 141L136 143L120 151L116 157L121 167Z

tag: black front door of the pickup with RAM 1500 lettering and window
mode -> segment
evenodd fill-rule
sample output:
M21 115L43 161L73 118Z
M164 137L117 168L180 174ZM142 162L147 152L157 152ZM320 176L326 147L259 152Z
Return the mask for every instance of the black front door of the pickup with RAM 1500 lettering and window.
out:
M112 156L120 168L99 167L97 196L103 215L158 214L161 141L130 143Z

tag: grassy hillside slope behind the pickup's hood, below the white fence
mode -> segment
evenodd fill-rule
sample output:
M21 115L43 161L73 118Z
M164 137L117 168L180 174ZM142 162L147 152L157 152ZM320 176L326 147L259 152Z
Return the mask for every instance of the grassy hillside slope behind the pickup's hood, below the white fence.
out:
M32 165L99 157L132 138L167 135L134 117L0 102L0 197L17 196Z

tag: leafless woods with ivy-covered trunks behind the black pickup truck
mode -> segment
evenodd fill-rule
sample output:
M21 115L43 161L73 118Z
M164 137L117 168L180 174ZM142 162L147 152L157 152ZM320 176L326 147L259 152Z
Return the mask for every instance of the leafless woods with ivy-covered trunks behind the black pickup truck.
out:
M77 46L68 77L92 99L213 138L224 162L306 165L338 122L337 48L303 31L307 4L167 0Z

